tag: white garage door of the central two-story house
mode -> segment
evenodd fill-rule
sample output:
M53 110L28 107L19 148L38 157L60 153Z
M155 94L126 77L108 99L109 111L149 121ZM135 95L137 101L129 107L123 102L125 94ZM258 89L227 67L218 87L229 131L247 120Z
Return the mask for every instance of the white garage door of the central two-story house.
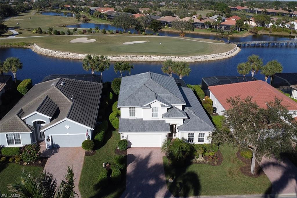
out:
M161 147L161 135L128 135L128 147Z

